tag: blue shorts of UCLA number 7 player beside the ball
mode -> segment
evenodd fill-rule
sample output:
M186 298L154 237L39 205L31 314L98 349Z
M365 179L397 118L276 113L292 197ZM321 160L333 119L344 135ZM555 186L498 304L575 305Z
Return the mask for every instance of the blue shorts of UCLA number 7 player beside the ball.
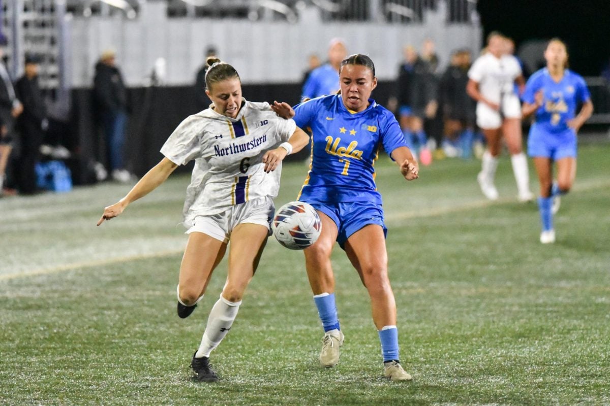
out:
M345 250L345 242L359 229L369 224L380 225L384 237L387 236L387 227L383 220L381 206L370 201L348 201L345 203L332 203L329 201L307 201L317 211L328 215L337 225L339 234L337 242Z

